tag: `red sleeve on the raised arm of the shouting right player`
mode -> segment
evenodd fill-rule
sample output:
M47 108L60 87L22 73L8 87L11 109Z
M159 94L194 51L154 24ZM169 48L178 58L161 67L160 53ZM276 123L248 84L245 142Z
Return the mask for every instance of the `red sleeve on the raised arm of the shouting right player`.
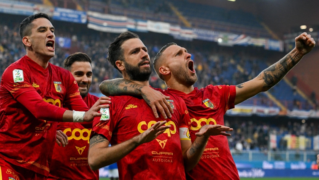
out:
M211 89L212 93L217 92L220 95L219 104L224 109L224 114L228 109L235 108L235 98L236 98L236 86L228 85L208 85L208 89Z

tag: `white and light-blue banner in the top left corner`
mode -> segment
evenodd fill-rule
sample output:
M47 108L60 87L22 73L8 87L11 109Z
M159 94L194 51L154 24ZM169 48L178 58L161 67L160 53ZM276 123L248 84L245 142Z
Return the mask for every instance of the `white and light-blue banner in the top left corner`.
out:
M33 15L34 4L20 2L20 1L10 1L1 0L0 1L0 12L6 14L17 14L17 15Z

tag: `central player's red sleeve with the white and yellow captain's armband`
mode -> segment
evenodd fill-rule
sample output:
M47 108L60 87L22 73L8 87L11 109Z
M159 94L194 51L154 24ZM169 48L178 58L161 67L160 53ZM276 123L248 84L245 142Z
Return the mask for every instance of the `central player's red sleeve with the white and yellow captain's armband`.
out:
M189 128L190 128L190 117L188 113L188 109L184 100L178 97L178 103L180 105L180 124L179 124L179 132L180 132L180 139L181 140L190 140Z

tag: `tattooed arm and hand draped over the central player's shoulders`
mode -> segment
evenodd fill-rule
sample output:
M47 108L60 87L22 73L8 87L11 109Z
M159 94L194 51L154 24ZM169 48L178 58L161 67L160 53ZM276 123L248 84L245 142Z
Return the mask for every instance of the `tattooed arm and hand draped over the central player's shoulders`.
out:
M152 89L149 86L139 85L137 83L131 82L127 79L117 78L111 80L105 80L100 84L100 91L102 94L108 94L111 96L115 95L138 95L142 96L143 99L151 106L153 113L156 118L159 117L157 109L161 115L167 119L172 117L171 113L173 109L166 101L169 96L165 96L159 91ZM157 109L156 109L157 108Z

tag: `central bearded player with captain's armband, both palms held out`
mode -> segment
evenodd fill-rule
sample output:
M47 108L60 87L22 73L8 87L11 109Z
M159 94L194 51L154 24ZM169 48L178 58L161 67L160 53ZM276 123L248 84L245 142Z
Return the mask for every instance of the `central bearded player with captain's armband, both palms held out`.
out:
M147 48L137 34L124 32L108 49L109 62L124 79L149 86L151 66ZM111 85L112 86L112 85ZM109 108L93 120L88 161L95 170L117 162L119 179L185 179L185 169L199 161L210 135L232 131L221 125L206 125L194 143L189 137L189 112L185 102L167 92L173 114L157 120L141 97L113 96ZM165 125L165 126L162 126ZM109 142L111 147L108 147Z

